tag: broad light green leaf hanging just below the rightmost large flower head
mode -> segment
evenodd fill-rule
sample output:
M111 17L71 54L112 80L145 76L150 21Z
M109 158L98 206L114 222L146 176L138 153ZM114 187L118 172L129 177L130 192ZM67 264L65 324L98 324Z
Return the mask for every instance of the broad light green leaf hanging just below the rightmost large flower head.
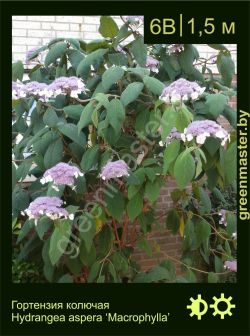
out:
M185 169L185 174L184 174ZM192 181L195 174L195 162L191 153L182 152L174 165L174 177L176 178L177 186L184 189L189 182Z

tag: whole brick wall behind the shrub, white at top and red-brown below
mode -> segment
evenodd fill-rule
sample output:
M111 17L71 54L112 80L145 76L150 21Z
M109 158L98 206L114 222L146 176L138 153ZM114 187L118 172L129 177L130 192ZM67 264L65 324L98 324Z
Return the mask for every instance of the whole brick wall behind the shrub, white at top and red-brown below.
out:
M114 17L120 26L122 20L119 16ZM25 60L26 52L33 48L48 43L56 37L72 37L81 38L86 41L101 38L98 33L99 16L13 16L12 24L12 52L13 61ZM215 50L207 45L196 45L201 57L209 57L215 53ZM236 45L226 45L233 54L236 61ZM214 67L214 71L217 69ZM235 78L236 81L236 78ZM231 105L236 107L236 99L231 99ZM223 126L228 127L225 120L221 119ZM154 253L148 256L141 250L136 250L134 257L140 263L143 270L147 270L157 263L160 258L166 257L166 254L176 259L180 258L182 239L180 236L173 236L165 225L166 218L162 216L171 208L171 191L175 188L172 180L169 180L166 186L162 187L160 197L156 204L157 216L161 216L159 223L160 228L154 229L150 234L150 242L152 245L158 244L160 253ZM177 272L180 273L178 264Z

